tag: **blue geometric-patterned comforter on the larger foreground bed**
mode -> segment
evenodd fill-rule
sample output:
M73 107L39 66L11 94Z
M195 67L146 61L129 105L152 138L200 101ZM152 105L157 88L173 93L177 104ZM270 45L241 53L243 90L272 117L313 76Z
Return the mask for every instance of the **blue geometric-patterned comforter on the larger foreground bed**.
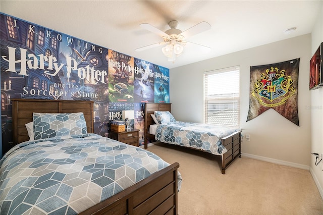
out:
M1 214L77 214L169 166L96 134L23 142L0 165Z

